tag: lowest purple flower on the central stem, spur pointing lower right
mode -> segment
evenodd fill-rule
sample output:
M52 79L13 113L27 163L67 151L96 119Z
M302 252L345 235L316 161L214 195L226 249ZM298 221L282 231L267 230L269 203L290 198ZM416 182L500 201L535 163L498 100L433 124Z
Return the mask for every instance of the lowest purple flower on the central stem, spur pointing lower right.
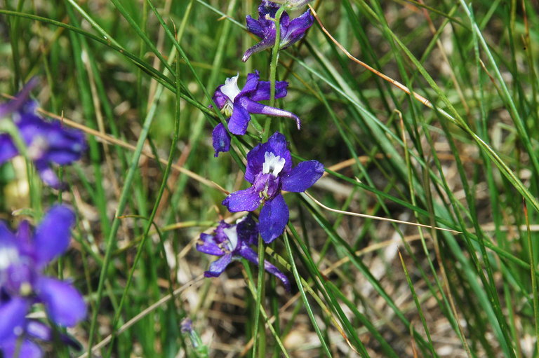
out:
M251 249L251 245L258 245L258 225L251 215L234 225L221 221L213 235L201 233L200 240L201 243L197 244L199 252L220 256L210 264L209 270L204 272L206 277L218 277L229 263L241 258L258 265L258 254ZM264 269L279 278L286 291L290 291L290 282L284 273L267 261L264 261Z

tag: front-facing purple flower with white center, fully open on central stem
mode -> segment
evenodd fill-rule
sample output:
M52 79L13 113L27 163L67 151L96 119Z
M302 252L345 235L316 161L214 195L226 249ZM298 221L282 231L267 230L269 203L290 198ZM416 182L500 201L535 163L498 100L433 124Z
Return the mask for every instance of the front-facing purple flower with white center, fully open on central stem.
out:
M230 212L252 212L262 203L260 235L265 242L272 242L288 222L288 207L281 190L302 193L322 174L324 165L317 160L301 162L293 168L286 139L277 132L247 154L245 179L253 186L230 193L222 204Z

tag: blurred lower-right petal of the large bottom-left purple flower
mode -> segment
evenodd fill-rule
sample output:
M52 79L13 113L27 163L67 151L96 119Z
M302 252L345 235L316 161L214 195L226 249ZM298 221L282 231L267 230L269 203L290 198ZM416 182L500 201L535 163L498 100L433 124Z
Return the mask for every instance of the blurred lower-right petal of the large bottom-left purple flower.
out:
M86 303L72 284L39 277L36 292L48 315L56 324L74 326L86 317Z

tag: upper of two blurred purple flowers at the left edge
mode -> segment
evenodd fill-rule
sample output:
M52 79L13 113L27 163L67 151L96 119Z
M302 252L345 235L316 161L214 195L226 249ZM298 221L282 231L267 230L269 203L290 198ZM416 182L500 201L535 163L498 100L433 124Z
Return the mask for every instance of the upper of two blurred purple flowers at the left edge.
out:
M60 188L62 183L51 163L67 165L79 160L86 149L86 141L79 130L63 128L59 122L48 122L37 115L37 103L28 98L34 85L35 81L31 81L15 99L0 105L0 121L15 123L41 179L48 186ZM0 165L18 154L13 138L0 133Z

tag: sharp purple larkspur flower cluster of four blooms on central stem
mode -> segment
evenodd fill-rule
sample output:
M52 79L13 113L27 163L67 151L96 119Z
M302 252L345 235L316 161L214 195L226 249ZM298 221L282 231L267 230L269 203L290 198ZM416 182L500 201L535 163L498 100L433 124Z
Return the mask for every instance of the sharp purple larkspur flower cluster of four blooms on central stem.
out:
M279 0L283 3L282 0ZM297 8L307 4L308 0L285 0L285 8ZM279 50L291 46L303 36L312 25L314 18L306 11L298 18L291 20L284 9L268 0L262 0L258 7L258 20L247 16L247 29L262 40L246 50L242 60L245 62L251 55L267 48L273 48L277 41L277 18L279 18ZM280 14L280 15L278 15ZM271 99L269 81L260 81L260 72L247 75L244 87L240 90L238 78L227 78L223 85L215 89L213 102L220 112L225 115L224 123L219 123L213 130L213 149L215 156L220 152L230 150L230 135L244 135L251 121L251 114L265 114L291 118L300 129L300 118L294 113L273 106L266 106L260 101ZM288 83L275 81L274 98L284 98L287 95ZM258 245L258 235L266 243L277 239L288 223L288 206L281 191L301 193L310 188L324 174L324 165L317 160L308 160L293 166L292 156L288 150L286 137L275 132L265 143L259 143L247 154L245 179L251 184L250 188L230 193L222 205L229 212L255 212L262 205L258 223L249 214L236 224L221 221L213 233L202 233L197 250L204 254L219 256L211 263L206 277L219 276L229 264L238 259L246 259L258 265L258 254L252 248ZM286 275L265 261L264 269L279 278L287 291L291 285Z

